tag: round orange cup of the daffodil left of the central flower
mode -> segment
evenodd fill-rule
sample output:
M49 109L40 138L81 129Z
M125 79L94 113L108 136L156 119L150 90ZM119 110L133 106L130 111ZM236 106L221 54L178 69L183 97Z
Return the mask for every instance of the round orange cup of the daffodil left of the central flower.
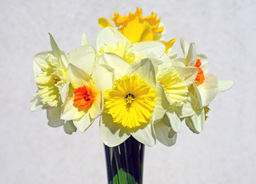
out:
M86 110L95 100L95 94L91 87L78 87L74 91L74 105Z

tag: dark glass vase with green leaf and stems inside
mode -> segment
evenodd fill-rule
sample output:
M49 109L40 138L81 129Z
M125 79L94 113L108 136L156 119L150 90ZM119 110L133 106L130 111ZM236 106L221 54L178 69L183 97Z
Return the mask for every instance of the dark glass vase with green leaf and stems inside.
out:
M142 184L144 151L132 136L118 146L105 145L108 184Z

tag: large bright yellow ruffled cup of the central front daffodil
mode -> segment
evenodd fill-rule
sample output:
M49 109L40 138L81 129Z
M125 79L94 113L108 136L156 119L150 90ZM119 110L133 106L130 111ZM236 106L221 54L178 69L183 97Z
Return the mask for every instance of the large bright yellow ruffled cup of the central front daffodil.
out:
M155 107L155 91L138 75L125 75L105 91L105 112L115 123L135 128L149 123Z

